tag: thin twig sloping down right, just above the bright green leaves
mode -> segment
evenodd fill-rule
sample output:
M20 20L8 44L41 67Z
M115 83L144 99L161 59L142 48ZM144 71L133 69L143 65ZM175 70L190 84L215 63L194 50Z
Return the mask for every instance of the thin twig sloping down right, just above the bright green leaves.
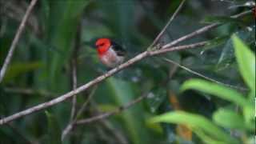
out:
M223 85L223 86L227 86L227 87L231 87L231 88L234 88L234 89L237 89L237 90L247 90L246 88L244 87L240 87L240 86L233 86L233 85L229 85L229 84L226 84L226 83L223 83L223 82L218 82L217 80L213 79L213 78L209 78L209 77L206 77L205 75L203 74L200 74L194 70L190 70L189 68L187 68L186 66L182 66L180 64L178 64L178 62L174 62L173 60L170 60L169 58L162 58L164 61L166 62L169 62L169 63L172 63L186 71L189 71L190 73L192 74L195 74L195 75L198 75L199 77L201 78L205 78L206 80L210 81L210 82L215 82L215 83L218 83L220 85Z

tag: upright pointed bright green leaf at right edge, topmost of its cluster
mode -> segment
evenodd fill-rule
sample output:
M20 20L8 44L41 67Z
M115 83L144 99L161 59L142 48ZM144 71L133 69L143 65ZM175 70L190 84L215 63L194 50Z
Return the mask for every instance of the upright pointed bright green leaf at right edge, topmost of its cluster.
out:
M236 35L232 36L232 40L242 78L250 90L255 90L255 55Z

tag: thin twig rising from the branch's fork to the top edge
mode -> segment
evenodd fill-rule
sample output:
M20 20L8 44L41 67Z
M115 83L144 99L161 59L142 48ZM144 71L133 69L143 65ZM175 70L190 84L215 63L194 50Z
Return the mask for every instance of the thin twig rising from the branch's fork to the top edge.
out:
M181 10L184 2L186 0L182 0L182 2L179 4L178 8L175 10L174 14L170 17L169 21L166 23L166 26L161 30L161 32L158 34L157 38L154 39L154 42L152 42L152 44L150 45L150 47L154 46L155 44L157 44L157 42L159 41L159 39L162 37L162 35L166 32L166 29L170 26L170 23L174 20L174 18L176 17L176 15L178 14L179 10Z

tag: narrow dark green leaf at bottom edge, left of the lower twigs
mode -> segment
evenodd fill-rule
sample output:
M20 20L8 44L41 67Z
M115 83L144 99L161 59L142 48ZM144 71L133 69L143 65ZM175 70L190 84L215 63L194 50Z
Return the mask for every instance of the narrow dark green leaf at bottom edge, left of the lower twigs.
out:
M54 115L50 114L48 111L45 112L48 122L48 136L50 144L61 144L62 133L58 125L58 121Z

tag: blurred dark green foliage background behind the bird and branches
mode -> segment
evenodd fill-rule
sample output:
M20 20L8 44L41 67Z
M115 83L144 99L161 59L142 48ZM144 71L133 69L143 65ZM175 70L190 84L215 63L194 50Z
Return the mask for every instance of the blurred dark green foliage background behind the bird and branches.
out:
M74 63L78 86L104 74L108 69L98 60L96 38L114 39L128 51L128 58L146 50L180 2L38 1L0 85L0 116L17 113L73 90ZM110 118L75 126L63 143L200 143L186 126L146 121L172 110L211 118L214 110L227 103L195 90L179 93L183 82L198 76L161 58L170 58L218 82L246 87L238 72L230 35L237 34L255 51L255 20L252 14L238 19L229 16L250 10L253 4L248 2L254 1L186 1L160 42L171 42L213 22L224 23L179 44L211 40L209 45L146 58L78 94L78 110L91 96L78 119L114 110L143 94L148 98ZM1 66L29 4L27 0L0 1ZM0 126L0 143L58 143L62 130L70 122L71 107L70 99Z

